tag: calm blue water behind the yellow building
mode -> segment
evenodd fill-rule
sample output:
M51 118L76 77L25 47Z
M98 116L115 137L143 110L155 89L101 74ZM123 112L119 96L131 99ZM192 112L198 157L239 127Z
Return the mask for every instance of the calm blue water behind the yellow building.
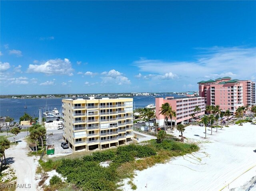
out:
M157 96L157 97L165 97ZM175 96L175 95L174 95ZM33 118L39 118L39 108L42 112L45 110L53 110L56 107L61 112L62 98L42 98L42 99L0 99L0 116L10 116L14 121L19 121L24 112ZM135 96L133 97L135 107L146 107L148 104L155 104L153 96ZM24 106L27 106L25 109Z

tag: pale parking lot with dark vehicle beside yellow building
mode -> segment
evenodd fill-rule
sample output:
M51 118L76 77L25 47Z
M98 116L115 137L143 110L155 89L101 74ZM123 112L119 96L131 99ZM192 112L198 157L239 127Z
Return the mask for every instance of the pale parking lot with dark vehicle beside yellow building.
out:
M68 155L71 154L73 151L71 148L63 149L60 145L64 142L62 139L62 133L56 134L47 134L46 135L46 144L47 145L54 145L54 155L49 155L49 157L54 156L61 156L61 155Z

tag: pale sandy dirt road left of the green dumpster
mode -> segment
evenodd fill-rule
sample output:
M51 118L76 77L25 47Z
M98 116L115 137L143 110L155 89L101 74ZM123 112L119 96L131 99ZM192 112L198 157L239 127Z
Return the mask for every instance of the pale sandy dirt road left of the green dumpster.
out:
M16 170L16 191L36 190L36 159L35 157L28 157L27 153L27 143L24 139L21 139L18 145L12 146L5 152L6 159L11 163L11 167Z

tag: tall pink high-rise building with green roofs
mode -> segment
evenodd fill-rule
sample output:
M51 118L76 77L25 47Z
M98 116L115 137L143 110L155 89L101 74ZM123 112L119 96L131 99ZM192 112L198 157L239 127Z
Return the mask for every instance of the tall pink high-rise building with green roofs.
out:
M231 79L230 77L200 81L199 96L205 98L206 105L219 105L222 111L235 112L239 106L255 104L253 83L250 80Z

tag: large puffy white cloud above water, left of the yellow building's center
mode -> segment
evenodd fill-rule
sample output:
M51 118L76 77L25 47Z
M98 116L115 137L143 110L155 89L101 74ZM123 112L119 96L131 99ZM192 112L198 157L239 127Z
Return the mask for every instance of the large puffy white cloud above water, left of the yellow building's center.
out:
M45 73L48 75L69 75L72 76L72 69L69 59L51 59L41 65L32 65L28 67L29 73Z

